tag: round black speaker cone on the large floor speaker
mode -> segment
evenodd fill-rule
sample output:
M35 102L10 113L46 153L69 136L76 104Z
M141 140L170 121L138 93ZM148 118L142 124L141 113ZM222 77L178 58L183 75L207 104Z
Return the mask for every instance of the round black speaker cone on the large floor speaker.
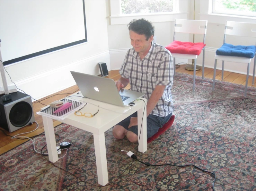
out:
M11 108L9 120L15 127L23 127L29 122L32 114L33 110L31 105L25 101L21 101Z

